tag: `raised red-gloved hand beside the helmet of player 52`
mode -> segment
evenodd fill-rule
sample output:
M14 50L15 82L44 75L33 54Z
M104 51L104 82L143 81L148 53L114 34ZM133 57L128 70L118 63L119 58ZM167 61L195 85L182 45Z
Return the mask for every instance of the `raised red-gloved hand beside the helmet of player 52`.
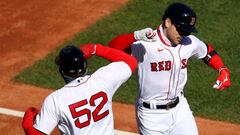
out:
M83 45L80 45L80 49L83 51L86 59L90 58L92 55L96 53L95 44L83 44Z

